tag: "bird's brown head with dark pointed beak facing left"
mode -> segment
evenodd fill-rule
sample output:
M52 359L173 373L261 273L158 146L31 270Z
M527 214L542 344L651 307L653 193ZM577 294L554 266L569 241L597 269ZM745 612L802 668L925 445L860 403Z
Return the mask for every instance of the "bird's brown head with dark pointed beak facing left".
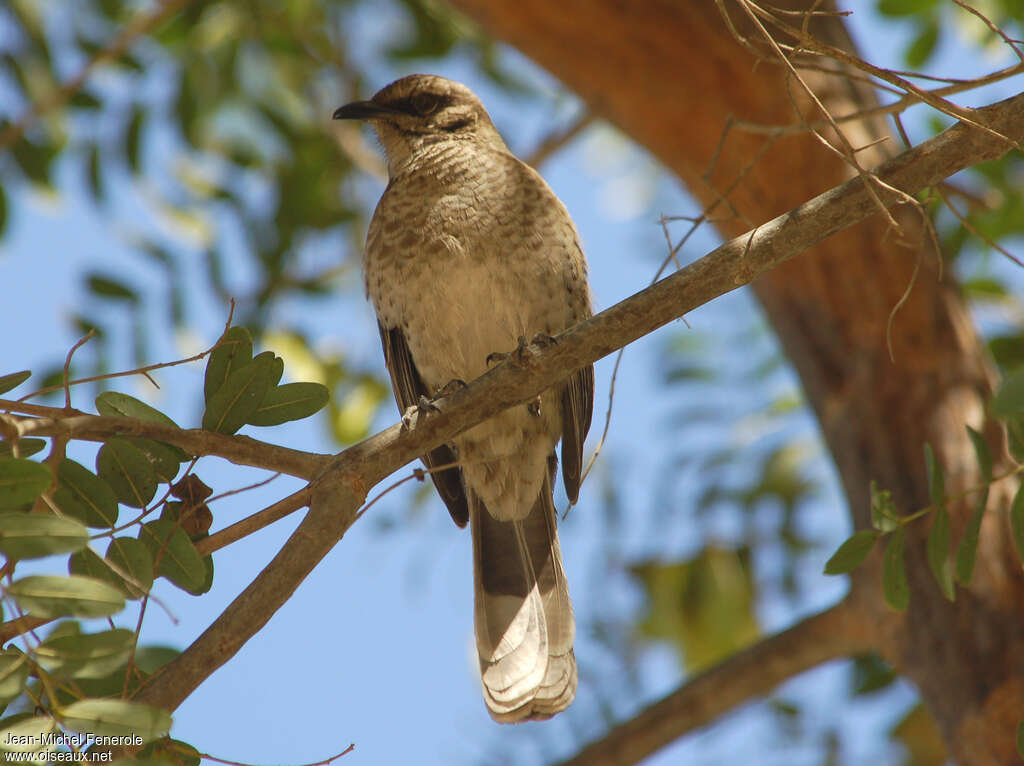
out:
M441 141L504 141L483 104L461 83L436 75L409 75L379 90L369 101L353 101L335 120L365 120L377 130L388 167L396 168L425 147Z

